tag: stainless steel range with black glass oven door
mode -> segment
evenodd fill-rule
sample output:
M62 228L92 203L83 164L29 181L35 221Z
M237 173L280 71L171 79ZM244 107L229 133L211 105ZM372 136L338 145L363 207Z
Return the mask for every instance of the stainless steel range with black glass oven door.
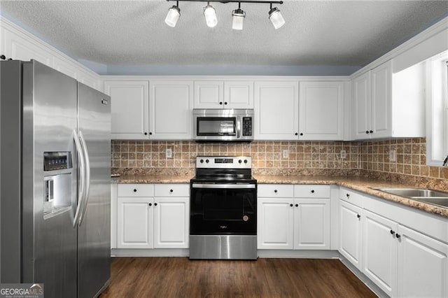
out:
M197 157L190 180L190 259L256 260L251 157Z

